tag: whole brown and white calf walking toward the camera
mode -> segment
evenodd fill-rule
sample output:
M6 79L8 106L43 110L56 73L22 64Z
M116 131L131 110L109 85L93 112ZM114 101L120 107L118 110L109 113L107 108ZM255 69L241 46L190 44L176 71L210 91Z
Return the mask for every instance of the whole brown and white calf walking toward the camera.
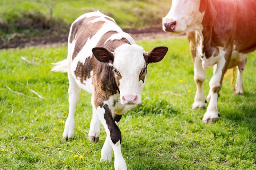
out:
M81 89L92 93L92 120L89 139L99 140L100 125L107 137L101 161L115 155L115 170L126 170L121 154L122 115L141 103L147 65L161 61L167 47L155 47L146 53L116 22L99 11L85 13L71 26L67 59L56 63L53 71L67 72L69 79L69 114L64 138L74 136L74 113Z

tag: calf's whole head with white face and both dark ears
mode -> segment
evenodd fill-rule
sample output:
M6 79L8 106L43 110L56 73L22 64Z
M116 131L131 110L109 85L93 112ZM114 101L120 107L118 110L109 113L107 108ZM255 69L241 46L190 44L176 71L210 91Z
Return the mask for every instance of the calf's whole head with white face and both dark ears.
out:
M112 64L113 75L120 91L121 104L141 103L147 65L161 61L167 51L167 47L159 46L146 53L141 46L136 44L123 44L113 53L101 47L92 49L97 60Z

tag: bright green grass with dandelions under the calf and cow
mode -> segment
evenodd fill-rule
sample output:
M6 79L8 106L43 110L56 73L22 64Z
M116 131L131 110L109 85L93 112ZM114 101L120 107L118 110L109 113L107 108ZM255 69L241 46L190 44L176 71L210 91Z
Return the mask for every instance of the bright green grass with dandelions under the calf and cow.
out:
M168 46L169 51L161 62L148 66L142 103L121 120L122 153L128 169L256 169L256 52L249 55L245 67L245 95L234 95L231 75L225 77L218 99L221 118L204 124L201 119L205 110L191 109L195 83L188 40L147 40L138 44L146 51L154 46ZM81 93L76 107L74 139L62 139L68 112L67 74L50 69L51 63L66 55L66 46L0 51L1 170L114 169L113 162L99 162L106 137L103 128L98 144L90 143L85 136L92 114L88 93ZM212 70L206 73L207 94ZM78 153L83 158L75 157Z

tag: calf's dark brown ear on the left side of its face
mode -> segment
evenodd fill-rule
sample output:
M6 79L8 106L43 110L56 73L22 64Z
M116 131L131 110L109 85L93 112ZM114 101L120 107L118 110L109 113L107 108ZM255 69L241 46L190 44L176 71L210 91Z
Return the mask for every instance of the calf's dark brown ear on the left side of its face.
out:
M100 62L110 62L114 60L114 55L103 47L95 47L92 49L92 53Z

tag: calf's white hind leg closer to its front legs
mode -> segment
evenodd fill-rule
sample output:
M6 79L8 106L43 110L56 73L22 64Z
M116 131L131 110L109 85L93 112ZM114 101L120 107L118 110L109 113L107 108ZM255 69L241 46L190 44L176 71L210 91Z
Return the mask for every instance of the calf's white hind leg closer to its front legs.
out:
M99 116L97 114L97 110L93 104L93 94L92 94L92 120L90 123L90 130L89 130L89 140L91 142L97 143L99 141L99 133L101 128L101 121L99 120Z

